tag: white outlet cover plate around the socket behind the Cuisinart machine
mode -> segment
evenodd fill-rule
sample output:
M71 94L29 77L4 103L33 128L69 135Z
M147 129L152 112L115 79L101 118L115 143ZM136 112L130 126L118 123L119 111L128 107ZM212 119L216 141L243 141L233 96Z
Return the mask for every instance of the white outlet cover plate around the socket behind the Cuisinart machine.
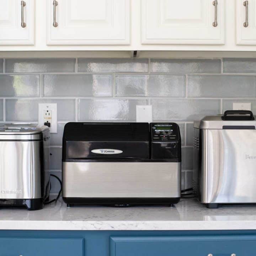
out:
M50 133L58 133L58 114L57 103L39 103L38 104L38 126L44 125L44 112L52 111L52 121L50 124Z

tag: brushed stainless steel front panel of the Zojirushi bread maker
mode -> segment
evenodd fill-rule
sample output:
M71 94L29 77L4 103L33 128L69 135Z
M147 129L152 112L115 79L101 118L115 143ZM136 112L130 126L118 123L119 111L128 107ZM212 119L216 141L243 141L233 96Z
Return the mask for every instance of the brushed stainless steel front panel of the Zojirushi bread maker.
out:
M181 164L63 162L63 197L180 197Z

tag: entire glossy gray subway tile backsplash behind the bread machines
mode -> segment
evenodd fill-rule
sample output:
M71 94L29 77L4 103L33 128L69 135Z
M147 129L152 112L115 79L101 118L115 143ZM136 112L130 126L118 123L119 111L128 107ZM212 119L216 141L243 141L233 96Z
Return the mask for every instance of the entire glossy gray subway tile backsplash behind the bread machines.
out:
M221 74L222 61L230 74ZM58 133L51 134L51 170L58 177L66 122L134 122L136 105L151 104L154 121L180 126L182 189L188 188L193 121L232 109L233 102L251 102L256 113L256 59L78 58L78 73L75 65L75 58L0 59L1 123L37 122L38 103L58 103Z

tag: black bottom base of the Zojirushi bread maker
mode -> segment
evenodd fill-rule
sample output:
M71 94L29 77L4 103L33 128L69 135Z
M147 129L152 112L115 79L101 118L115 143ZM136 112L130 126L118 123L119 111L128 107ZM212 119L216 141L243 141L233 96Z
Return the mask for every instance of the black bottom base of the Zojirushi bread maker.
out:
M131 205L167 205L172 207L173 204L180 202L180 197L171 198L83 198L83 197L63 197L63 201L67 204L67 207L75 205L88 205L88 204L103 204L115 207L124 207Z

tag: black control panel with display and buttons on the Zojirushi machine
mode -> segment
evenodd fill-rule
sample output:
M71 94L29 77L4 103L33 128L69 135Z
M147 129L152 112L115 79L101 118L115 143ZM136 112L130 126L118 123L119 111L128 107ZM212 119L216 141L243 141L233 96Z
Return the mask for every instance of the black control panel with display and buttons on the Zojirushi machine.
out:
M176 123L151 123L151 139L156 142L176 141L179 139Z

